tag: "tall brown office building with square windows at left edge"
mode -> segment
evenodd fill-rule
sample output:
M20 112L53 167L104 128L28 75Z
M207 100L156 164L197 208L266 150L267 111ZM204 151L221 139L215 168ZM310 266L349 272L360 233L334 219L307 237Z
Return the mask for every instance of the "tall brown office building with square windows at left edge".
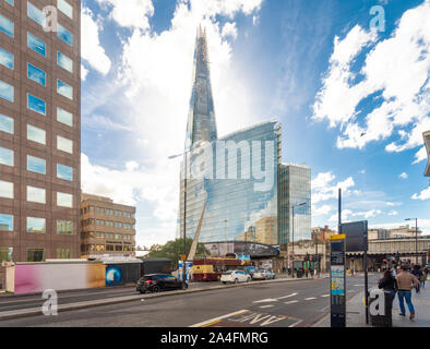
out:
M0 1L0 262L80 256L80 0Z

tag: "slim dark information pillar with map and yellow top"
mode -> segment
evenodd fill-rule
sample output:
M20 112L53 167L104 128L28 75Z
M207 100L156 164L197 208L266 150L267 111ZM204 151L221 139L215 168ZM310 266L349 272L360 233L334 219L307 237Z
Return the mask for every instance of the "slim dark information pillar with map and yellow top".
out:
M331 237L331 326L346 327L345 236Z

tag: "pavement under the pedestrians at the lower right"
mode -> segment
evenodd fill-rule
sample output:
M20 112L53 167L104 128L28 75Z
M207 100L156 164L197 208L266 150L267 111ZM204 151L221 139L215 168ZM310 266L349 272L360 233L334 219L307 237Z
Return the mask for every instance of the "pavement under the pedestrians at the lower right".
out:
M370 291L370 289L369 289ZM346 327L372 327L366 324L365 292L360 292L346 303ZM393 327L430 327L430 284L427 289L419 293L413 291L413 304L415 308L415 320L409 320L409 312L406 308L406 316L399 315L398 298L396 296L393 303L392 318ZM312 327L330 327L330 314L315 323Z

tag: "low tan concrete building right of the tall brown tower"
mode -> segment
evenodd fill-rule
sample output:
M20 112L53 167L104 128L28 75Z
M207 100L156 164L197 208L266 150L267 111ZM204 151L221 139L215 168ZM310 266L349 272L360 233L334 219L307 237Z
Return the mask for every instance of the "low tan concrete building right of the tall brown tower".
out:
M135 207L82 194L81 255L135 255Z

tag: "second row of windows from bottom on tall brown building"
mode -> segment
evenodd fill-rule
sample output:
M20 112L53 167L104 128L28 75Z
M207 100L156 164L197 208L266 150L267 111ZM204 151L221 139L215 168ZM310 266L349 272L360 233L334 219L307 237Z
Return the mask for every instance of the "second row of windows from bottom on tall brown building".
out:
M13 231L13 216L0 214L0 231ZM46 233L46 218L27 217L27 232ZM73 221L57 220L57 234L73 234Z

